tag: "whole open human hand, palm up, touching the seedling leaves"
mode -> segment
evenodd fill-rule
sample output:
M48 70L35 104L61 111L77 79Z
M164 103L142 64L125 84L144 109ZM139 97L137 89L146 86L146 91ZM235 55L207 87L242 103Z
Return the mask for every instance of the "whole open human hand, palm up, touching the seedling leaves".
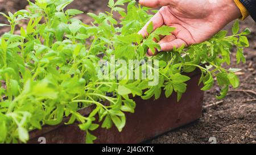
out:
M161 51L206 41L241 16L233 0L140 0L139 3L146 7L162 6L139 34L147 36L147 26L151 22L154 30L163 25L176 28L172 35L159 41ZM153 56L150 49L147 55Z

